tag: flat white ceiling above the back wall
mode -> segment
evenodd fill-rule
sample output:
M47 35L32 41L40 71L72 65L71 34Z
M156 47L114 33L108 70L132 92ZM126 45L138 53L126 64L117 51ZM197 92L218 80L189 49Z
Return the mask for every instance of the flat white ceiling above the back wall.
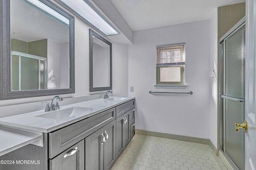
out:
M245 0L111 0L132 31L208 20L219 6Z

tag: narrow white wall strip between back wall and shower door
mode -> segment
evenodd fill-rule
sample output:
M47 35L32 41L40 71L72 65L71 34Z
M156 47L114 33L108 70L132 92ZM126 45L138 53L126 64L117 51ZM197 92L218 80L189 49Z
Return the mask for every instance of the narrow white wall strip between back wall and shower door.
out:
M218 13L217 9L210 19L210 70L218 68ZM210 71L208 70L208 71ZM218 75L210 78L210 140L217 149L218 145Z

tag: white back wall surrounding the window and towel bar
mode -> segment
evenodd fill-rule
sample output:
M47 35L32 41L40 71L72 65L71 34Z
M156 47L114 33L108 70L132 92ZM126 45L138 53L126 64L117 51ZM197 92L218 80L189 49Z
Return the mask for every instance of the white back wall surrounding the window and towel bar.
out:
M186 43L186 89L155 89L156 45ZM136 129L210 138L210 20L135 31L129 45L129 86ZM193 94L149 94L152 91Z

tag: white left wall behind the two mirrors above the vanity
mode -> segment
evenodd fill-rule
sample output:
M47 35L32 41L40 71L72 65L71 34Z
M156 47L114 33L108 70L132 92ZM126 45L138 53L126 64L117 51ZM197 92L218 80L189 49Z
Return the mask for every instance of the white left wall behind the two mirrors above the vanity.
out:
M58 4L53 0L54 3ZM72 14L71 12L69 12ZM72 14L74 16L74 14ZM101 92L89 92L89 25L84 21L75 17L75 93L61 95L65 98L85 96L90 94L99 94ZM116 96L128 96L128 45L121 45L113 43L112 45L112 67L113 67L113 82L112 90L113 95ZM14 100L1 100L0 101L0 118L10 115L16 115L26 113L28 111L35 111L38 108L26 108L18 109L17 107L8 107L8 109L2 109L2 106L12 106L15 104L24 104L31 102L38 102L52 100L54 96L43 96L36 98L24 98ZM45 106L45 104L42 104ZM60 106L62 104L60 103ZM16 109L17 112L12 111Z

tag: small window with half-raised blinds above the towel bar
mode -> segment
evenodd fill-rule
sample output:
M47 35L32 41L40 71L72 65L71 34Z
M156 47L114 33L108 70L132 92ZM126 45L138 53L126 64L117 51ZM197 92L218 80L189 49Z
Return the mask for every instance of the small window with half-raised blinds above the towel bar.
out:
M156 84L185 84L185 43L156 46Z

